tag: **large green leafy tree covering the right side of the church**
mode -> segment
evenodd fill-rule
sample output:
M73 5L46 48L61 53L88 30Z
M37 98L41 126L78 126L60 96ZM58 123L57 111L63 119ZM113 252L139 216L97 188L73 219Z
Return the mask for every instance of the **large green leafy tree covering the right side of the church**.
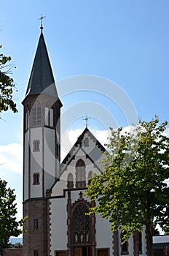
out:
M153 226L169 230L169 138L167 122L139 121L133 132L111 129L105 170L93 175L86 195L98 200L90 213L109 219L111 230L122 230L124 241L146 227L147 254L152 256Z

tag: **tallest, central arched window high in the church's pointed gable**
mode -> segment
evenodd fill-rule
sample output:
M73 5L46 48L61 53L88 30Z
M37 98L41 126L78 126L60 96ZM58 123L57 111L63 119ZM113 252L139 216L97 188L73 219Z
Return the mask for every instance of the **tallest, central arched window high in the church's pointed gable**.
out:
M86 186L86 165L82 159L76 162L76 187Z

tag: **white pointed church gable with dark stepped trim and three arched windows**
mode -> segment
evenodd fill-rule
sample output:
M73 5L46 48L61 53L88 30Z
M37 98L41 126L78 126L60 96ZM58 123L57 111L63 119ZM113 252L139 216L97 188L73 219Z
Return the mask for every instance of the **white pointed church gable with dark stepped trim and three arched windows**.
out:
M72 189L87 187L92 173L101 173L103 151L105 148L101 143L87 128L84 129L61 164L59 181L52 187L52 196L62 196L64 189L68 188L68 181ZM78 166L78 162L83 162L83 165Z

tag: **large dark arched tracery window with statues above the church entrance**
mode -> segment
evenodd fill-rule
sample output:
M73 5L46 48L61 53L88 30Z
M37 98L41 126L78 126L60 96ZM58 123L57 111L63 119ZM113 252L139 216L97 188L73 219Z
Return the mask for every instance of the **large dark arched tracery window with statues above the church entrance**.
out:
M78 203L73 213L73 237L74 244L90 243L90 217L85 213L88 212L84 203Z

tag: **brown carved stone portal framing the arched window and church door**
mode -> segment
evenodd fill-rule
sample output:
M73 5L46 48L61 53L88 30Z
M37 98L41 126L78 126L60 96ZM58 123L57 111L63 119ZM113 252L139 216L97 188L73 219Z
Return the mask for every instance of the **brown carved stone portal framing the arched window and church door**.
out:
M82 192L73 204L68 192L68 256L95 256L95 214L86 215L89 208Z

